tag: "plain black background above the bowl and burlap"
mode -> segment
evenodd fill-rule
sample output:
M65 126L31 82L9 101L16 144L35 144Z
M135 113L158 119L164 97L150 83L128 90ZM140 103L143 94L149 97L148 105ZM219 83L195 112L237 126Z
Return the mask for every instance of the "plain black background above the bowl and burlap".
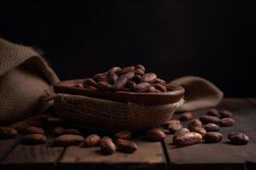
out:
M166 80L205 77L256 96L253 1L0 4L0 37L41 48L62 80L141 63Z

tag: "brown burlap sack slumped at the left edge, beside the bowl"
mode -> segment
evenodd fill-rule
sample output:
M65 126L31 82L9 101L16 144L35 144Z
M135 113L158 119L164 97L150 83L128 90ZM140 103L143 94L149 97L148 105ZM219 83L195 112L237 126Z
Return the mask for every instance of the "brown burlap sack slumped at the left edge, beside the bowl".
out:
M0 38L0 125L48 109L58 81L35 50Z

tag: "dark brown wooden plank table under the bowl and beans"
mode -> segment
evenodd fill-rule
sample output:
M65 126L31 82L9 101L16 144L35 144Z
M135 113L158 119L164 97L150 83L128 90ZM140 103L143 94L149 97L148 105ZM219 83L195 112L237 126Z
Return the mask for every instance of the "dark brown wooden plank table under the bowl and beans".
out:
M167 134L163 142L135 139L139 149L134 154L104 156L99 147L22 145L17 137L0 140L0 169L256 169L256 99L224 99L218 107L233 111L236 124L221 129L224 139L217 144L177 147ZM247 133L250 143L229 144L230 131Z

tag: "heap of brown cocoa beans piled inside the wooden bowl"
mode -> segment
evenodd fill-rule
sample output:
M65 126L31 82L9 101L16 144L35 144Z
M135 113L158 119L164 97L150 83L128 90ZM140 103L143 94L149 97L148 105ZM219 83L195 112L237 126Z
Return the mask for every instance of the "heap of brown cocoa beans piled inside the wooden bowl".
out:
M110 70L84 79L79 88L90 88L101 91L129 91L137 93L166 92L166 81L158 78L153 72L145 72L143 65L120 68L115 66Z

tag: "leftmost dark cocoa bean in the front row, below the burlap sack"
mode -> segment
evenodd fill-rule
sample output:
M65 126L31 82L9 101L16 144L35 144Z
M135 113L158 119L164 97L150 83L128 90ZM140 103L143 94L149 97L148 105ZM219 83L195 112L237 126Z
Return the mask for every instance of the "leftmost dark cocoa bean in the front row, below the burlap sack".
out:
M46 142L46 136L44 134L26 134L20 139L21 144L44 144Z

